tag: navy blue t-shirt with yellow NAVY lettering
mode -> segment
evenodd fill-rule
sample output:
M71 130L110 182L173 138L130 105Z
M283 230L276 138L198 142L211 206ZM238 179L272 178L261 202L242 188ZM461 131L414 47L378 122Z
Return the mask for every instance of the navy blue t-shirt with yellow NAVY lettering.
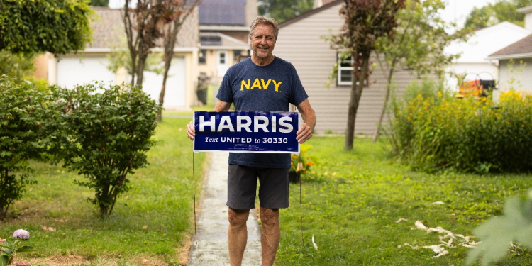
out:
M279 57L265 66L250 58L230 67L216 98L234 102L236 111L289 111L309 98L294 66ZM230 153L230 165L290 168L288 153Z

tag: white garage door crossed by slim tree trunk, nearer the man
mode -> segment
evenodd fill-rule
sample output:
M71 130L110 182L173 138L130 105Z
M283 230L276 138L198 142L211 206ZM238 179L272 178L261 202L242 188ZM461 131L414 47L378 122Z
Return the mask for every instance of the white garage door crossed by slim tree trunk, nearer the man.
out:
M166 80L165 101L162 106L166 109L181 109L185 106L185 66L183 57L174 57ZM143 91L159 101L162 87L162 74L144 72Z

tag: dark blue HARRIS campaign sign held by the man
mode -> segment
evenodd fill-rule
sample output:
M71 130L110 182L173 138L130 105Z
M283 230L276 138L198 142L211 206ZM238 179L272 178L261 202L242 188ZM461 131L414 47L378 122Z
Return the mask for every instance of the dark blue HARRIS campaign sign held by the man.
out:
M196 111L194 128L194 152L299 153L298 113Z

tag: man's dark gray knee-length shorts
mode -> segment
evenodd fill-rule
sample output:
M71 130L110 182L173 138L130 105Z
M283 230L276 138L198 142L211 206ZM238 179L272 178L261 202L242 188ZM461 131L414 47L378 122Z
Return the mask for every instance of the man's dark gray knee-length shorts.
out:
M227 206L238 210L255 209L258 177L260 206L267 209L288 208L288 171L288 168L229 165Z

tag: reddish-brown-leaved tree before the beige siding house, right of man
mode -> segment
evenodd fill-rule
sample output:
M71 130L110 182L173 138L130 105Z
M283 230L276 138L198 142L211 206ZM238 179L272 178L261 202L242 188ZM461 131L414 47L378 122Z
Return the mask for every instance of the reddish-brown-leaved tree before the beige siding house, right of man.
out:
M331 48L344 50L353 59L353 83L348 106L348 125L345 133L345 150L353 150L355 118L362 89L370 75L371 52L377 38L393 37L397 26L397 11L405 0L345 0L340 9L344 25L340 33L331 36Z

